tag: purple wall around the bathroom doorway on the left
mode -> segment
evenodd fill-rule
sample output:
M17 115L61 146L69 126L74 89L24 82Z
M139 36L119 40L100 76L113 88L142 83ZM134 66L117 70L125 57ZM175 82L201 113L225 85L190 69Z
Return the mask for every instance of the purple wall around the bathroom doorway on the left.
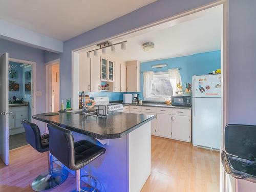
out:
M46 105L44 51L0 39L0 54L5 52L8 52L11 58L36 62L36 90L42 92L42 96L36 97L36 112L44 113Z

